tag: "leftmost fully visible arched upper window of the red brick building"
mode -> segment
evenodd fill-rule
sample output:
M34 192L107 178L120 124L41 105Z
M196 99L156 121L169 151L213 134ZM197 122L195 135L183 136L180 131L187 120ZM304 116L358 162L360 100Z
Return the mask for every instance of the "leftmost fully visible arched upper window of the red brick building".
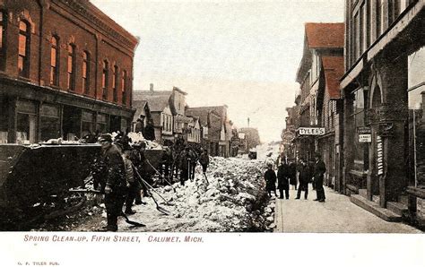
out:
M19 22L18 73L30 76L30 23L25 21Z

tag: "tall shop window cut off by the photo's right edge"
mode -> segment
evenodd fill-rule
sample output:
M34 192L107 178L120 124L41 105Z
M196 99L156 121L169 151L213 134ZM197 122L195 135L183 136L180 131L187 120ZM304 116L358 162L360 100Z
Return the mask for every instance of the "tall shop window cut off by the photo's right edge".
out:
M425 186L425 47L409 56L409 182Z

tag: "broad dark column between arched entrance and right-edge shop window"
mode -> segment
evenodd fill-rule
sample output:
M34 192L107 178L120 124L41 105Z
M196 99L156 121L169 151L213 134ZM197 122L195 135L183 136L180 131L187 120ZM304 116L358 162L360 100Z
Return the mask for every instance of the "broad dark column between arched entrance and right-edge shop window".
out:
M406 121L407 56L380 62L384 104L379 108L378 132L383 139L384 176L379 185L381 206L388 201L398 201L407 186Z

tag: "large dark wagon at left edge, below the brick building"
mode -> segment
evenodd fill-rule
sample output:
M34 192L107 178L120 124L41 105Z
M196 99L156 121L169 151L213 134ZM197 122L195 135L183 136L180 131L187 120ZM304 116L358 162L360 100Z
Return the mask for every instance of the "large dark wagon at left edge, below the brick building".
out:
M99 144L0 145L0 208L33 206L83 185Z

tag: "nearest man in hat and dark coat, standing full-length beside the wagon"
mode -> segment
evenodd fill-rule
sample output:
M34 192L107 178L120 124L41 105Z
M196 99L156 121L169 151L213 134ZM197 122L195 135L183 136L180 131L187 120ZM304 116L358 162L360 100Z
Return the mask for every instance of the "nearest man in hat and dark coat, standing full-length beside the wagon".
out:
M112 143L110 134L102 134L98 141L102 147L102 161L106 177L105 206L107 210L108 231L117 231L118 216L126 201L126 176L124 161L117 146Z

